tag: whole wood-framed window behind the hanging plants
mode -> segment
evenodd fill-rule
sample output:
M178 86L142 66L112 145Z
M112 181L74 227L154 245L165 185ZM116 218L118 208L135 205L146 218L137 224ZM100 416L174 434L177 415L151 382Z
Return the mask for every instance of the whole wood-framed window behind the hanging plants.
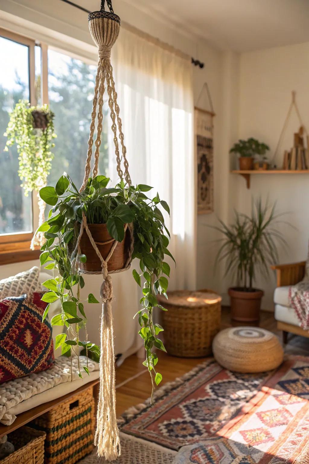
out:
M29 251L33 231L38 226L36 193L32 193L32 202L32 196L26 197L20 187L16 146L3 151L9 112L19 99L29 100L32 105L50 105L55 113L57 139L48 185L55 185L63 171L67 171L79 187L88 150L96 65L1 29L0 60L6 63L6 72L0 74L0 169L6 173L0 182L0 264L5 264L4 254L10 254L6 262L13 262L13 251L17 249L27 250L25 259L38 256ZM103 112L108 115L107 101ZM100 174L105 175L108 121L109 117L103 117L99 162ZM15 259L23 260L20 254Z

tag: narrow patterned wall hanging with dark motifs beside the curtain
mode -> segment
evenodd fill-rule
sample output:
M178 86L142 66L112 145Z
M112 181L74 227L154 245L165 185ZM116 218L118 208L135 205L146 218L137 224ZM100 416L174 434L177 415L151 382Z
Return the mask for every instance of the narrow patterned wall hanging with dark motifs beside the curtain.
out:
M210 111L195 107L195 151L197 160L197 213L207 214L214 211L214 108L208 84L202 87L197 104L206 89Z

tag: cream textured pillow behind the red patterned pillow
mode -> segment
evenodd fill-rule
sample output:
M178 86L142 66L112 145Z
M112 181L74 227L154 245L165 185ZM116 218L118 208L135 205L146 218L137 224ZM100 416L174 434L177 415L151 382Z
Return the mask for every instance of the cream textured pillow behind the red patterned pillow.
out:
M29 271L20 272L16 276L0 280L0 299L42 291L42 285L38 280L39 274L39 268L34 266Z

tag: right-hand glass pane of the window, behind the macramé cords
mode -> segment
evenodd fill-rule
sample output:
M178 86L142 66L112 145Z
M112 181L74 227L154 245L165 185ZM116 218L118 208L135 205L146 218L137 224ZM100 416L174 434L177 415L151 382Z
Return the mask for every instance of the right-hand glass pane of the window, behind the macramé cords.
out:
M95 88L96 66L48 51L48 90L50 109L55 113L57 139L55 158L48 179L55 185L66 171L76 187L82 185L88 150L89 124ZM107 104L107 102L106 102ZM107 108L104 108L107 113ZM107 173L107 118L103 117L99 170Z

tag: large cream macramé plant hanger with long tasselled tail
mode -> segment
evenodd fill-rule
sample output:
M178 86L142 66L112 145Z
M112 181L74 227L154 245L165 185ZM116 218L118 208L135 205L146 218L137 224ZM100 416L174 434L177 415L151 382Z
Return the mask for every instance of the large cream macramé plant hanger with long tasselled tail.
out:
M131 178L128 172L129 164L126 159L126 146L122 132L122 122L120 118L119 105L117 103L117 92L113 78L113 68L110 63L111 49L118 38L120 31L120 19L113 12L110 0L107 0L110 12L105 11L105 0L101 2L101 11L89 14L89 29L95 44L98 47L98 70L95 78L95 89L93 98L93 110L91 113L90 134L88 140L88 152L85 165L85 176L80 188L82 192L88 183L90 174L90 163L92 157L95 122L97 119L97 136L95 140L94 167L92 175L98 173L102 120L103 120L103 95L105 88L108 94L108 106L112 119L112 131L114 134L114 146L117 162L117 173L120 180L125 180L131 186ZM121 145L121 156L118 143L117 129ZM124 172L121 168L124 165ZM113 285L110 273L126 271L130 267L133 252L133 226L126 224L125 236L129 234L130 247L125 267L115 271L108 271L107 263L114 253L118 242L114 239L107 242L95 242L87 224L85 214L82 215L82 223L79 230L75 249L72 254L72 266L78 270L78 257L81 254L81 238L86 232L98 258L101 261L101 271L87 271L88 274L102 274L103 283L101 285L102 316L101 316L101 356L100 356L100 393L97 411L97 429L95 432L95 445L97 445L98 455L108 461L114 461L120 456L119 430L116 421L116 397L115 397L115 366L114 366L114 329L112 315ZM101 256L97 245L107 245L112 243L108 256L104 259Z

